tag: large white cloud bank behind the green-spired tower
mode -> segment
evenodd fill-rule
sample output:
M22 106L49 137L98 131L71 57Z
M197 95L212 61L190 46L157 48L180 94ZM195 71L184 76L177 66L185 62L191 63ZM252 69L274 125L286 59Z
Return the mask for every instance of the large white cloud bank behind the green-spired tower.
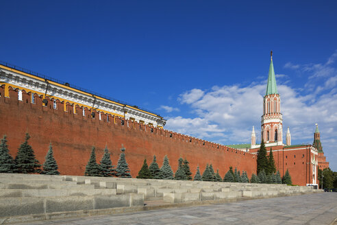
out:
M328 64L329 62L329 64ZM325 73L325 69L336 71L332 60L327 63L312 64L308 73ZM303 70L303 67L298 67ZM304 70L303 70L304 71ZM307 76L308 82L312 80ZM278 85L281 96L281 110L286 127L290 127L292 143L312 143L314 123L319 123L323 150L330 167L337 170L337 74L316 76L315 92L302 92L303 88L292 88L286 83ZM322 93L321 89L325 92ZM218 143L250 143L251 126L255 126L260 139L260 118L262 99L266 91L265 80L249 86L214 86L210 90L192 89L179 97L195 113L194 118L168 118L166 128L190 134L194 137L216 141ZM321 93L319 95L319 93ZM285 140L285 137L284 137Z

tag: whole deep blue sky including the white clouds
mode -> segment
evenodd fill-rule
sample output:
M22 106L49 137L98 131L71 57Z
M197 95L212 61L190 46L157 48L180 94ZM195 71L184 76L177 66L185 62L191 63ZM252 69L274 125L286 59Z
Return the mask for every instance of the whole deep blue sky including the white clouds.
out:
M1 1L0 60L142 106L217 143L260 130L270 55L284 134L337 171L336 1ZM4 10L5 9L5 10ZM259 139L260 137L258 137ZM285 139L285 138L284 138Z

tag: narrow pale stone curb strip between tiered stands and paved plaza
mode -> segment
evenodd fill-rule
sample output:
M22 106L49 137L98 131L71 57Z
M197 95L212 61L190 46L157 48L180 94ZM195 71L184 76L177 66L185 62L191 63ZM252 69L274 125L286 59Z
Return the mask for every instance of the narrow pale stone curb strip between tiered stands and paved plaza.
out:
M319 192L313 192L319 193ZM278 198L278 197L288 197L288 196L301 196L305 194L313 193L294 193L287 195L279 195L277 197L242 197L229 200L205 200L199 202L182 202L182 203L168 203L168 204L158 204L158 205L145 205L145 206L131 206L131 207L120 207L112 209L92 209L88 211L66 211L59 213L44 213L44 214L34 214L34 215L23 215L23 216L14 216L14 217L1 217L0 225L3 224L21 224L25 222L38 222L43 220L60 220L71 217L86 217L94 215L109 215L109 214L119 214L119 213L132 213L137 211L149 211L154 209L169 209L177 207L186 207L186 206L201 206L201 205L210 205L210 204L223 204L228 202L238 202L243 200L256 200L264 198ZM334 224L334 222L332 222Z

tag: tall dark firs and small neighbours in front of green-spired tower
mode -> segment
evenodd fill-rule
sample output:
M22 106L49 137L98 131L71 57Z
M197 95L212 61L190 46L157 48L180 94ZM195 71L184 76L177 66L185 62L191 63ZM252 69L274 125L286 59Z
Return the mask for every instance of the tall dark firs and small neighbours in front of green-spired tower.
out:
M261 141L260 149L258 150L256 172L258 176L253 174L251 177L251 180L253 180L254 182L255 180L258 180L258 182L261 183L273 183L273 180L274 181L277 180L275 181L275 183L282 182L287 185L292 185L291 176L289 174L288 169L286 170L286 173L284 174L281 180L279 171L276 171L273 152L272 150L270 150L269 155L267 155L266 146L264 145L263 139Z

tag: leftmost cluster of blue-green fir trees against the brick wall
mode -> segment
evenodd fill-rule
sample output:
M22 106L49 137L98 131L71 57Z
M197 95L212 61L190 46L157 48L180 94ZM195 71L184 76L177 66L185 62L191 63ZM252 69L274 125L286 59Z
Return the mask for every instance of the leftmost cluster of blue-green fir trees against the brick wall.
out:
M0 144L0 173L20 173L20 174L47 174L59 175L58 164L53 157L53 147L49 145L49 150L45 157L42 168L35 158L34 150L28 141L30 136L26 133L25 141L18 148L16 157L10 155L6 136L1 139Z

